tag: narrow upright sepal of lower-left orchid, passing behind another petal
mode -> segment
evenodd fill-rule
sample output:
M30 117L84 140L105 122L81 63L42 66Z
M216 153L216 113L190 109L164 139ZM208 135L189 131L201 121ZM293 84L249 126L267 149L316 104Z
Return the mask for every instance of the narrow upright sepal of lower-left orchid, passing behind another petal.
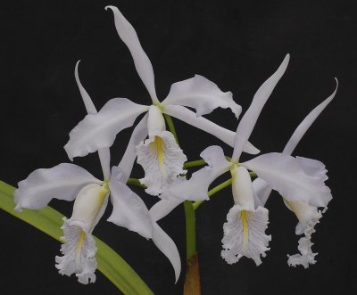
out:
M79 86L80 95L82 96L82 100L86 107L87 113L96 114L97 111L95 109L94 103L92 102L86 89L80 83L78 67L79 67L79 61L77 61L76 63L76 68L74 70L74 77L76 78L77 85ZM98 151L98 155L103 170L104 180L109 180L109 177L111 175L111 153L109 152L109 148L100 149Z

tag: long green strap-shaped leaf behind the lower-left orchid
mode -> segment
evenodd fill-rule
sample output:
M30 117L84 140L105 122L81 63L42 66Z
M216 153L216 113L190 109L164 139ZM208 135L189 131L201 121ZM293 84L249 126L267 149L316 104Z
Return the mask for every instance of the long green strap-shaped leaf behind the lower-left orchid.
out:
M4 209L12 216L20 218L45 234L52 236L57 241L60 241L63 215L49 206L39 210L24 209L21 213L16 212L13 202L14 190L15 188L12 185L5 184L0 180L0 209ZM98 248L96 260L99 271L120 291L130 295L154 294L140 276L137 275L135 270L118 253L96 237L95 243Z

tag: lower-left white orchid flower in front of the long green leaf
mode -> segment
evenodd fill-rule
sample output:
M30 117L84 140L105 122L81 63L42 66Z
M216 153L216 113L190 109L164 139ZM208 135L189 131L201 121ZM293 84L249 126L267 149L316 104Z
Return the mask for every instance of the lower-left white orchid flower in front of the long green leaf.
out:
M80 84L78 63L75 76L87 112L95 114L95 105L87 91ZM146 208L144 201L126 185L135 160L135 146L141 129L134 130L129 146L118 167L110 170L109 148L98 151L103 168L104 180L92 176L84 168L62 163L54 168L41 168L33 171L19 183L14 193L16 210L22 208L44 208L52 198L73 201L70 219L63 218L62 257L56 257L56 267L62 275L76 274L79 283L95 283L95 240L92 232L104 214L111 196L113 210L108 221L153 239L155 245L170 259L175 270L176 281L180 273L179 251L156 220L167 215L166 203L154 205L153 213ZM164 206L162 206L164 205ZM159 213L156 213L159 212Z

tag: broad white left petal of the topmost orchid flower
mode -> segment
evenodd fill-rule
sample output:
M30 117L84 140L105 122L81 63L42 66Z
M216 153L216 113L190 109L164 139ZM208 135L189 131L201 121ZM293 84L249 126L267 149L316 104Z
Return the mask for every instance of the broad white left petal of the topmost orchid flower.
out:
M70 141L64 146L69 158L86 156L89 152L109 147L121 130L134 124L141 113L148 110L142 104L126 98L114 98L105 103L97 114L89 114L70 132Z

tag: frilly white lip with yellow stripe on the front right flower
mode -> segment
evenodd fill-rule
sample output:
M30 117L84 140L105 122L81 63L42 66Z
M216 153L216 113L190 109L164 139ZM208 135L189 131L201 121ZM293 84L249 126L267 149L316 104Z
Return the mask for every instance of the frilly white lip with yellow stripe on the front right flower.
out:
M240 205L233 206L227 215L227 222L223 225L223 239L221 252L228 264L236 263L240 258L252 258L257 266L262 263L271 236L265 234L269 224L268 209L258 207L247 210Z

